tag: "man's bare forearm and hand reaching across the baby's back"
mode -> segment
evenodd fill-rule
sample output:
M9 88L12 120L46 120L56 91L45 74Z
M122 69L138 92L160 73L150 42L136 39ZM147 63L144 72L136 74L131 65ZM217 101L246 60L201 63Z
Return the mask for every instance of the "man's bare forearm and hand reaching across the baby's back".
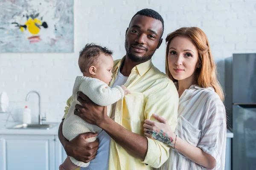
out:
M96 105L86 95L78 92L77 100L81 105L76 105L74 113L86 122L104 129L112 139L121 145L135 158L144 160L147 150L147 138L125 129L107 116L107 108Z

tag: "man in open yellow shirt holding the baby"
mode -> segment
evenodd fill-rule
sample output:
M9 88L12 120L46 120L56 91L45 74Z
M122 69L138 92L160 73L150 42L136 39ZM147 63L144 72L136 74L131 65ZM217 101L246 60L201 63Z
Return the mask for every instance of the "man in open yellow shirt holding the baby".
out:
M151 9L143 9L131 19L125 34L126 55L115 61L110 84L125 85L131 94L113 105L111 117L106 116L105 107L93 104L84 94L78 93L81 105L76 105L74 113L103 129L98 136L99 150L100 153L105 150L107 155L97 154L94 159L98 142L85 142L84 139L96 134L81 134L68 142L63 137L61 124L59 139L67 155L90 161L92 168L100 170L151 170L167 160L170 146L143 136L144 121L154 119L153 113L167 119L173 130L177 124L178 94L175 85L151 62L163 41L163 29L163 18ZM67 103L70 101L72 99ZM109 165L97 167L96 164L108 155Z

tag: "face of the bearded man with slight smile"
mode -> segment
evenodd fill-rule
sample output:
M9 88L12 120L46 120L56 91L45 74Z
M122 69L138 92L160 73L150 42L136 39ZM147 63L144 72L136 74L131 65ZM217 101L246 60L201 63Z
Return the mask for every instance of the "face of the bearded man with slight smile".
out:
M162 43L163 25L160 20L136 15L126 30L125 50L134 62L145 62L153 56Z

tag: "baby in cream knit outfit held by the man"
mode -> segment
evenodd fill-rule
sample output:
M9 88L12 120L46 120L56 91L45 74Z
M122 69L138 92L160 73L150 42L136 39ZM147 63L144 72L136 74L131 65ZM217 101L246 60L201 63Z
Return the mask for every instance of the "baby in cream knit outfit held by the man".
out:
M95 44L87 44L80 51L79 68L83 76L77 76L73 87L73 102L70 105L67 116L63 122L63 135L67 140L72 140L81 133L100 133L102 129L96 125L91 125L74 114L75 105L80 104L76 97L78 91L83 92L94 103L107 107L107 114L111 114L111 105L122 99L130 91L125 86L110 88L109 82L112 80L113 58L112 51ZM88 138L87 142L93 142L96 137ZM64 163L60 165L60 170L75 170L78 167L87 167L90 164L77 161L68 156Z

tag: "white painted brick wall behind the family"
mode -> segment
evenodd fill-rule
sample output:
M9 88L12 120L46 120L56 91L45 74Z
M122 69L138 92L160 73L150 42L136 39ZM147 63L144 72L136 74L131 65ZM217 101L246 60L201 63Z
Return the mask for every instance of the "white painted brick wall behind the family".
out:
M11 101L26 103L26 94L41 94L41 112L47 120L61 120L73 81L80 74L79 51L87 42L106 45L114 59L125 55L125 30L131 17L142 8L158 11L165 22L163 38L182 26L198 26L209 38L224 85L224 58L233 53L256 52L256 0L74 0L74 53L0 54L0 92ZM164 71L165 43L153 63ZM38 113L36 96L28 105ZM35 121L36 121L35 117Z

